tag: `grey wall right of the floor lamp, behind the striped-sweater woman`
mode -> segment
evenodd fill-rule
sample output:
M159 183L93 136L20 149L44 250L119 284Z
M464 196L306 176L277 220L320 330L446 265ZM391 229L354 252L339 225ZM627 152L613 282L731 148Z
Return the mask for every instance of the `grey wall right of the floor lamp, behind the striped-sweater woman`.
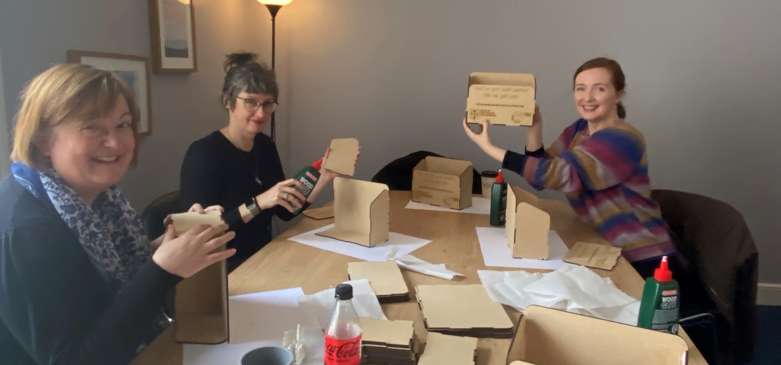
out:
M654 188L733 204L761 281L781 282L781 2L295 0L277 19L288 172L347 136L361 141L362 179L418 150L498 168L460 125L469 73L537 76L549 144L578 118L574 70L608 56L626 72ZM525 129L492 130L524 147Z

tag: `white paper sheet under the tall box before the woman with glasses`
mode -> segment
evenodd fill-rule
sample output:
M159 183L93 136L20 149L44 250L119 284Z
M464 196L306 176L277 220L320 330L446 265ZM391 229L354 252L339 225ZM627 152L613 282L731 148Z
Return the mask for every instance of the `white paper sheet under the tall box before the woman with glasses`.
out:
M398 254L405 255L419 249L420 247L426 246L431 242L428 239L419 239L412 236L391 232L387 241L374 247L366 247L358 245L357 243L344 242L338 239L332 239L330 237L317 236L315 234L317 232L323 232L326 229L332 228L333 225L326 225L325 227L313 229L312 231L301 233L300 235L293 236L289 239L291 241L303 243L307 246L317 247L320 250L341 253L343 255L367 261L387 260L385 255L388 253L388 251L391 250L391 246L398 247Z

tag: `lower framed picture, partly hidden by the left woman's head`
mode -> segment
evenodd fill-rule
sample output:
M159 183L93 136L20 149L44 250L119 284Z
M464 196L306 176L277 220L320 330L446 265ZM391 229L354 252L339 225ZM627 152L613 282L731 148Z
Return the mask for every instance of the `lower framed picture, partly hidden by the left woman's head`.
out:
M138 133L141 136L152 135L152 73L149 58L135 55L117 55L116 53L68 51L68 62L83 63L98 69L112 71L133 90L136 104L141 115Z

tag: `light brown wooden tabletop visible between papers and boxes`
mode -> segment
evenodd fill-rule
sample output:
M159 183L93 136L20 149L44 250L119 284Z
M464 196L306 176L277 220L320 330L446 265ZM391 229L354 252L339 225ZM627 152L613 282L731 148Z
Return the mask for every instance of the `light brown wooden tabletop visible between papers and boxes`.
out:
M424 284L480 284L477 270L514 271L517 268L487 268L483 264L480 244L475 227L489 227L488 215L465 214L448 211L420 211L405 209L412 197L410 192L391 191L391 232L430 239L432 242L415 250L413 254L433 264L447 264L448 269L466 275L453 282L433 276L403 270L410 293L415 285ZM577 241L608 244L599 233L583 224L572 208L560 200L540 200L540 209L551 214L551 229L558 232L567 246ZM339 253L319 250L312 246L294 243L287 239L333 223L333 218L316 221L304 218L293 228L274 239L228 276L229 295L287 289L300 286L306 294L319 292L348 280L347 263L360 261ZM612 271L592 269L612 281L629 296L640 299L644 281L623 257ZM530 271L530 270L527 270ZM544 271L544 270L542 270ZM383 304L383 311L390 319L415 321L415 331L426 338L423 319L414 300L407 303ZM517 323L520 314L505 306L505 310ZM280 334L281 335L281 334ZM689 345L689 363L707 364L690 338L680 331ZM627 341L631 341L627 338ZM480 338L477 349L478 365L505 365L510 346L509 339ZM134 360L134 365L182 363L182 346L173 340L173 326Z

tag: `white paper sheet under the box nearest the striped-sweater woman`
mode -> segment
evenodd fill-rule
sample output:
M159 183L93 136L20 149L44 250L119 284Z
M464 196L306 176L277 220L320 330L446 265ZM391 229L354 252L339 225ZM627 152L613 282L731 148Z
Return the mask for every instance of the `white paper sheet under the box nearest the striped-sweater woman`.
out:
M486 266L547 270L576 266L563 261L568 249L556 231L547 232L548 257L550 259L533 260L512 257L504 228L476 227L476 230L477 240L480 241L480 251L483 252L483 262Z

